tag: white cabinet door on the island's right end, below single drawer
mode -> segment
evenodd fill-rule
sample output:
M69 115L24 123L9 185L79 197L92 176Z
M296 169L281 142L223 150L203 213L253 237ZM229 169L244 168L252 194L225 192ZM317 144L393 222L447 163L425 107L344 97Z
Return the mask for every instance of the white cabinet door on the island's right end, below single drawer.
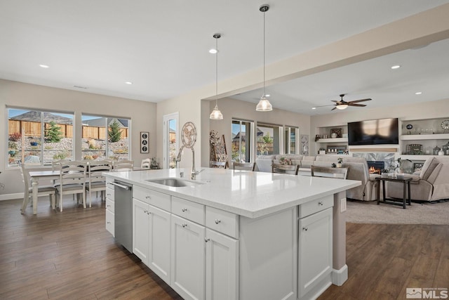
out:
M331 208L300 219L298 251L301 298L332 272Z

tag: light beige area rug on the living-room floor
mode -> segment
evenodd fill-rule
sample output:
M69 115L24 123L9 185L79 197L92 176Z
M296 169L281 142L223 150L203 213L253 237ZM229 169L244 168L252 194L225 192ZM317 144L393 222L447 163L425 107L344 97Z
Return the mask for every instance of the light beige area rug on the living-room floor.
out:
M435 224L449 225L449 201L415 203L402 206L375 201L348 201L349 223Z

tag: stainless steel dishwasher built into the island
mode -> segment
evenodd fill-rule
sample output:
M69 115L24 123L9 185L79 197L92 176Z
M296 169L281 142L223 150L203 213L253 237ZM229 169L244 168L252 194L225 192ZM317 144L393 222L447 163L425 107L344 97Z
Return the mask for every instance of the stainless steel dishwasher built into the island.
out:
M115 240L133 253L133 185L114 181Z

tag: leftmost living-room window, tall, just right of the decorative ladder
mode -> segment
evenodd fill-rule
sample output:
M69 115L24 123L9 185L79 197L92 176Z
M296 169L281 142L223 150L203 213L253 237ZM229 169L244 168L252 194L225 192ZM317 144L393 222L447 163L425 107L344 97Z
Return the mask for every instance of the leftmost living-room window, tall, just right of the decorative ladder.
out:
M251 162L253 161L253 122L232 120L232 161Z

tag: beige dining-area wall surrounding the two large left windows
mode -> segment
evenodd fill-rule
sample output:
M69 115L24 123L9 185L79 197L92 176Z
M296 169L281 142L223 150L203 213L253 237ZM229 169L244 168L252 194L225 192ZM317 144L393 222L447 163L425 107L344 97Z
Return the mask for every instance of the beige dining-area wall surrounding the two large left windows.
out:
M126 98L102 96L80 91L55 89L48 86L24 84L0 79L0 182L2 194L22 193L23 184L17 168L6 169L5 143L8 143L6 106L62 110L75 114L75 157L81 159L81 114L124 117L131 119L130 157L135 164L146 157L156 156L156 103ZM149 131L149 154L140 154L140 131ZM1 199L1 197L0 197Z

